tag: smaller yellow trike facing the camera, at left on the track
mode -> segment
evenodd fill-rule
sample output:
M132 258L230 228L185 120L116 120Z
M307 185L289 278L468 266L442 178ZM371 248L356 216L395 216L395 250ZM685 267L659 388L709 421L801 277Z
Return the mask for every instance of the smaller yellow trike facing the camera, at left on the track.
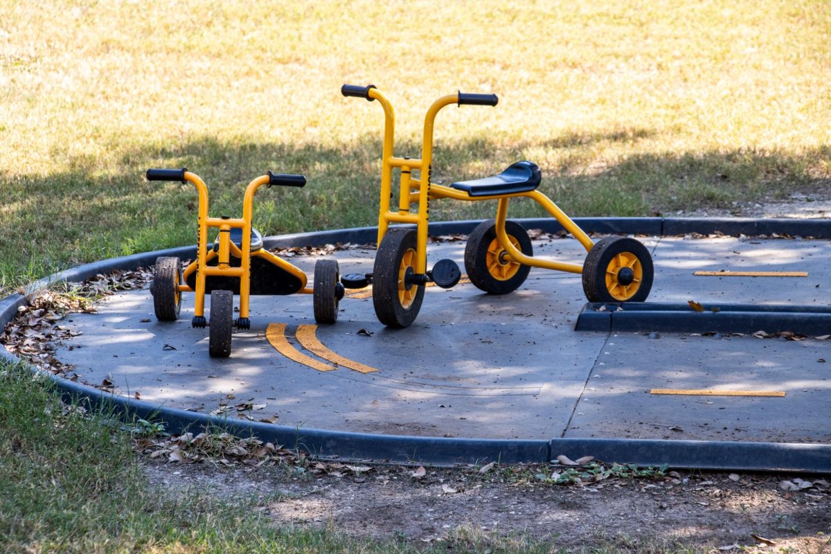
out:
M194 262L181 271L178 257L156 259L153 282L153 306L160 321L179 318L182 292L195 292L196 300L191 325L209 326L210 355L227 357L231 354L232 328L249 329L250 295L312 294L314 317L318 323L337 321L338 303L343 297L343 285L336 260L317 260L314 269L314 287L307 287L306 273L263 248L263 236L251 223L253 196L263 185L302 187L302 175L273 174L271 171L253 179L245 189L243 217L208 215L208 187L199 175L182 169L148 169L149 181L180 181L194 184L199 191L199 238ZM208 244L208 229L219 230L212 245ZM204 298L210 294L210 319L204 316ZM239 316L234 318L234 294L239 295Z

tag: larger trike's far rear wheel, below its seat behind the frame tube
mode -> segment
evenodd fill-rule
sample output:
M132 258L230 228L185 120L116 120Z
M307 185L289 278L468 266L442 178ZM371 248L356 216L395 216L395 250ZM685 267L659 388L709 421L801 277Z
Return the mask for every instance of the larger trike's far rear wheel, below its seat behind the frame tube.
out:
M526 256L534 255L531 238L522 225L506 221L505 233L520 252ZM496 238L496 220L479 223L465 245L465 271L470 282L490 294L508 294L517 290L528 278L531 267L506 258L506 254Z

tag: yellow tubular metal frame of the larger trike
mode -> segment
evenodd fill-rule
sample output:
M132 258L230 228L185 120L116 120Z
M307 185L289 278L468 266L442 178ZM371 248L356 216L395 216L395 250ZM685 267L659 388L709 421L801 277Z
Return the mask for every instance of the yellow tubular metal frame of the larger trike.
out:
M560 225L571 233L574 238L583 244L586 251L594 246L592 239L579 228L571 218L558 208L557 204L545 194L532 190L518 194L500 194L494 196L470 195L456 189L451 189L440 184L430 182L430 170L433 162L433 124L435 116L445 105L458 104L459 95L452 94L442 96L430 105L424 120L424 136L421 142L421 159L397 158L394 155L396 115L390 101L381 91L371 88L368 91L369 97L378 101L384 109L384 145L381 154L381 203L378 215L378 245L386 235L391 223L412 223L416 225L416 273L427 271L427 223L430 220L430 200L433 199L454 199L467 202L479 202L484 200L498 200L496 210L496 236L499 245L504 248L514 262L522 263L530 267L543 267L562 272L582 273L583 264L570 262L557 262L549 260L538 260L526 256L508 237L505 232L505 220L508 217L508 201L513 198L529 198L540 204L553 218L557 219ZM397 209L390 206L392 194L392 170L401 169L401 189ZM412 177L413 169L420 171L420 179ZM414 192L415 191L415 192ZM412 213L411 205L417 204L416 213Z

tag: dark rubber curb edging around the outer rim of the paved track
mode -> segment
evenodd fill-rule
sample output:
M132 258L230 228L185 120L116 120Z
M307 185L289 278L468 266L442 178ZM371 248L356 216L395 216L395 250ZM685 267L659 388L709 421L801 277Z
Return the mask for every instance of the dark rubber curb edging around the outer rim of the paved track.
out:
M627 233L663 236L667 234L715 231L725 234L789 233L815 238L831 237L831 223L791 219L678 219L678 218L575 218L587 233ZM478 221L431 223L430 234L470 233ZM562 227L551 218L520 219L525 228L539 228L556 233ZM320 233L300 233L265 238L265 248L321 246L327 243L371 243L377 229L354 228ZM101 273L133 270L148 266L156 257L194 257L196 247L170 248L93 262L56 273L27 287L27 292L55 282L82 282ZM27 303L21 294L0 301L0 326L6 326ZM600 312L602 313L602 312ZM616 312L619 313L619 312ZM611 322L610 322L611 328ZM0 357L11 363L22 360L0 349ZM24 362L25 363L25 362ZM56 375L49 375L65 400L81 402L91 409L112 409L125 419L164 421L170 433L185 430L221 428L238 436L256 436L283 446L296 447L318 457L386 460L396 463L534 463L545 462L559 454L572 458L592 455L607 462L635 463L640 466L667 464L673 468L735 469L831 473L831 445L791 443L743 443L714 441L647 439L461 439L364 434L325 429L306 429L287 425L264 424L219 418L183 409L150 404L125 396L79 385Z

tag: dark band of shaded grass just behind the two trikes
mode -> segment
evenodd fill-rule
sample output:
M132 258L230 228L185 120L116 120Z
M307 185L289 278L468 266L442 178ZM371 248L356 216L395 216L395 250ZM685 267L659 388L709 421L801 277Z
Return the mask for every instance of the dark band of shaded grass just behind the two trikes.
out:
M648 139L630 129L504 147L487 137L440 141L435 182L449 184L495 174L518 159L537 157L540 187L572 216L650 216L678 209L729 207L739 200L784 199L829 184L831 147L805 151L730 150L684 154L633 154L597 164L588 148L599 142ZM349 145L286 145L216 140L200 136L179 145L114 145L104 162L68 158L52 174L0 172L0 287L10 287L74 263L194 243L197 196L190 185L148 183L148 167L182 167L209 186L212 215L241 213L249 179L268 169L307 176L304 189L263 189L254 222L265 234L347 228L376 223L380 137ZM566 152L568 150L568 152ZM526 154L533 151L534 156ZM400 142L396 154L420 154L420 144ZM60 154L56 154L60 159ZM66 155L63 156L66 158ZM60 165L60 162L57 162ZM563 169L578 168L578 169ZM486 218L493 202L434 202L434 220ZM533 203L515 202L511 217L543 216Z

